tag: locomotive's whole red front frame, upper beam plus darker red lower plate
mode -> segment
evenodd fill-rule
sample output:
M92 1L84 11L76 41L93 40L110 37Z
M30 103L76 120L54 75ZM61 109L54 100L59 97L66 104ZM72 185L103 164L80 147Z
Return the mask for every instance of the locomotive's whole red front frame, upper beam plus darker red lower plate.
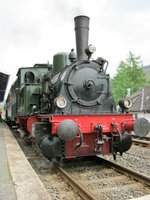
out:
M20 117L22 119L22 117ZM27 122L27 130L29 134L32 134L32 124L34 122L40 122L46 120L51 123L50 134L57 135L57 127L60 122L65 119L71 119L75 121L83 134L83 144L76 148L76 144L79 143L79 134L72 141L65 142L64 156L67 158L78 156L89 156L97 154L109 154L112 151L112 138L108 137L101 146L101 152L95 152L95 141L97 140L96 126L98 124L102 127L102 133L106 136L113 134L113 137L117 137L118 131L129 133L133 130L134 118L132 114L105 114L105 115L37 115L31 117L25 117ZM100 138L102 140L102 138Z

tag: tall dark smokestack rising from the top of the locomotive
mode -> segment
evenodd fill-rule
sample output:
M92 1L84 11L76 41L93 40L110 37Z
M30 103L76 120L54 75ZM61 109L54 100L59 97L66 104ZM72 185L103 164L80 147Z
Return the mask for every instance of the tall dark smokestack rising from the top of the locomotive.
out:
M74 20L75 20L77 61L82 61L87 59L85 49L88 47L90 18L81 15L75 17Z

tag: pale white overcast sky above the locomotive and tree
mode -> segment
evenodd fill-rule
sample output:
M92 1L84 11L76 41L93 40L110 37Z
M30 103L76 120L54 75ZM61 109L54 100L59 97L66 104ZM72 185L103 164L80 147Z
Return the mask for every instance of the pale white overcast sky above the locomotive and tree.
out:
M93 57L109 61L111 77L129 51L150 64L149 0L0 0L0 71L12 82L19 67L76 48L77 15L90 17Z

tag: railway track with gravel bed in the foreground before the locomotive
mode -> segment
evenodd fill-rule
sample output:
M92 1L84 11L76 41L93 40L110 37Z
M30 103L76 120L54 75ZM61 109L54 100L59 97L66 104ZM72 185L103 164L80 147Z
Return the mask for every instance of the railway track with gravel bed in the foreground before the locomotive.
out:
M93 166L91 166L92 164L87 164L85 169L83 169L84 162L81 166L79 164L78 167L78 164L75 164L76 167L74 166L73 168L69 165L65 169L62 169L57 164L55 164L55 167L65 181L86 200L127 199L133 197L133 194L130 194L132 190L134 191L134 197L139 195L139 191L145 194L150 193L149 177L100 157L97 157L93 162ZM95 173L95 170L98 177L92 175ZM83 171L85 171L84 174ZM90 178L89 174L91 174L91 177L95 177L94 180ZM120 188L119 191L118 187ZM122 198L120 198L121 195ZM123 197L123 195L126 197Z

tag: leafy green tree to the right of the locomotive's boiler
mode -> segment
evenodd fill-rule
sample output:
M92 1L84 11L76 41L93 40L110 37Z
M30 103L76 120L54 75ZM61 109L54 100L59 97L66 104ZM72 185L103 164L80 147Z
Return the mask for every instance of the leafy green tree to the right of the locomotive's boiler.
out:
M112 79L112 93L116 103L127 96L128 88L133 93L146 84L142 66L143 62L140 56L135 57L131 52L129 52L126 62L120 62L117 74Z

